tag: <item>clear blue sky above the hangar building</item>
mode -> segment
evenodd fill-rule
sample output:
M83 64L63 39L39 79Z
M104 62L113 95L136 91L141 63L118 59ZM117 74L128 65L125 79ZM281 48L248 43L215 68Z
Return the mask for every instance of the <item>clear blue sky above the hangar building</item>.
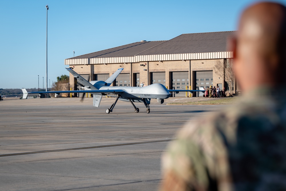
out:
M0 0L0 88L45 88L46 5L48 87L69 75L64 59L140 40L236 30L253 0ZM286 0L279 1L286 4Z

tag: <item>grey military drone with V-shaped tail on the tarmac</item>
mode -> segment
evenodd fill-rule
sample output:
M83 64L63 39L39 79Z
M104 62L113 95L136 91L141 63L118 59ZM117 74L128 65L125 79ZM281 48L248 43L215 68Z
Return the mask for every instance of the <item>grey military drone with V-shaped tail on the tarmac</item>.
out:
M147 108L147 113L150 113L150 100L157 99L159 103L164 103L164 99L167 99L171 96L170 92L201 92L203 93L205 90L203 88L199 88L199 90L168 90L162 84L151 84L144 87L123 87L123 86L110 86L112 82L116 79L116 77L122 72L123 68L119 68L114 74L112 74L106 81L90 81L88 82L82 76L77 74L72 68L66 68L75 78L77 78L78 82L80 82L84 87L82 90L71 90L71 91L49 91L49 92L27 92L26 89L22 89L23 91L23 99L27 99L28 94L44 94L44 93L55 93L59 95L60 93L91 93L93 94L93 106L99 107L100 101L103 95L115 94L116 100L111 105L110 108L106 109L106 113L110 113L113 111L114 106L118 100L121 101L129 101L136 113L139 112L138 107L134 105L134 102L144 103Z

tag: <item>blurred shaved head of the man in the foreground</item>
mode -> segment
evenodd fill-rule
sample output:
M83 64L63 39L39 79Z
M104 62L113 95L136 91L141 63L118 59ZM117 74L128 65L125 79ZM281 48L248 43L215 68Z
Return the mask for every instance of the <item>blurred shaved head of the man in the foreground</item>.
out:
M241 88L286 82L286 7L263 2L241 15L234 70Z

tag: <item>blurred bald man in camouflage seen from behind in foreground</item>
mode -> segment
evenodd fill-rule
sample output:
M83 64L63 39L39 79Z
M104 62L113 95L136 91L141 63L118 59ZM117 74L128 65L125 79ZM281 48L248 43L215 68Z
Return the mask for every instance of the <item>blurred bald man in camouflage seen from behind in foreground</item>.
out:
M286 190L285 38L285 6L243 11L233 69L244 95L186 124L162 157L160 190Z

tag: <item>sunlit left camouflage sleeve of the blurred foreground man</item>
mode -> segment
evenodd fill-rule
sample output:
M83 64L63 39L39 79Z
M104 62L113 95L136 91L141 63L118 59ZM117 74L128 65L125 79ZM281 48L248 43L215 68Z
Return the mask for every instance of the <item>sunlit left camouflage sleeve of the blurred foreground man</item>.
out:
M212 124L189 123L180 131L162 157L160 190L232 190L227 149Z

